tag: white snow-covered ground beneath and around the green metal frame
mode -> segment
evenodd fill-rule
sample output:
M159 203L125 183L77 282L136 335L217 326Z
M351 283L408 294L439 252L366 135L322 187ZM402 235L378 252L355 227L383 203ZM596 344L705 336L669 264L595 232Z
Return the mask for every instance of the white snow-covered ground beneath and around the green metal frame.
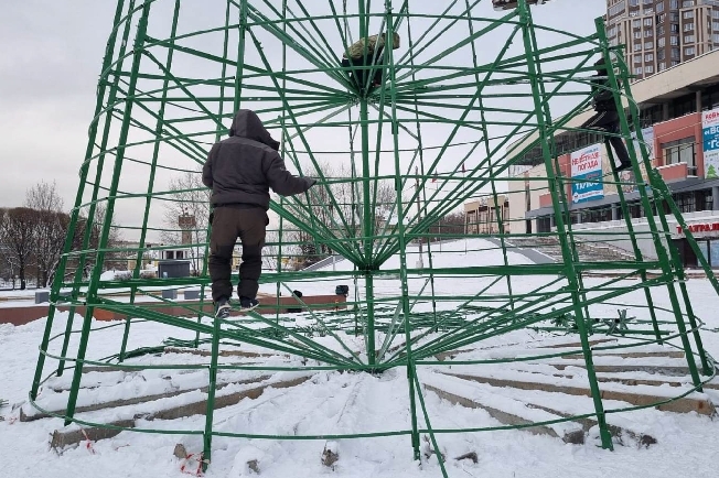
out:
M434 251L434 267L449 268L458 265L502 264L502 254L497 251L477 252L477 249L489 247L479 240L457 241L446 245L442 251ZM466 248L466 249L465 249ZM465 252L466 250L466 252ZM410 256L408 263L414 265L417 256ZM513 264L527 263L521 254L511 254ZM428 258L423 258L425 267ZM396 269L399 258L391 258L383 269ZM351 270L352 265L342 261L336 270ZM326 268L332 270L330 265ZM410 281L410 294L417 293L427 278L414 278ZM513 291L521 293L548 283L556 276L517 276L513 279ZM487 279L453 279L439 278L436 282L438 295L475 294ZM605 279L594 278L586 281L587 285L598 284ZM291 289L300 289L305 295L315 293L332 293L336 283L342 280L314 283L287 284ZM344 282L351 284L348 282ZM621 284L633 285L636 281L623 281ZM354 285L354 284L352 284ZM362 289L362 284L360 284ZM399 294L398 281L383 279L375 282L379 296L391 297ZM705 321L702 339L707 350L719 357L719 317L716 311L719 298L708 281L693 279L688 283L695 313ZM503 287L504 285L497 285ZM353 287L351 287L353 289ZM275 284L264 284L262 291L275 293ZM289 294L288 291L285 291ZM615 300L618 303L635 304L643 301L643 292L635 291ZM350 297L353 298L352 296ZM666 294L655 294L655 303L668 307L670 302ZM423 305L420 306L420 308ZM599 305L594 308L601 314L615 314L616 306ZM53 333L61 333L66 324L67 314L58 314ZM79 323L76 316L75 326ZM190 339L194 333L178 330L157 323L139 323L132 326L129 349L146 346L157 346L168 337ZM37 346L41 341L44 324L37 321L25 326L13 327L0 325L0 399L11 404L26 400L37 359ZM87 356L101 358L117 354L122 337L122 327L114 327L92 336ZM344 337L343 337L344 338ZM353 337L344 338L351 348L361 350L362 344ZM330 337L323 337L323 344L330 347ZM496 347L471 356L472 358L501 357L512 354L514 349L535 347L537 344L557 340L541 336L533 330L518 330L495 337L482 344L482 347ZM76 336L71 343L71 350L76 347ZM243 346L244 348L245 346ZM335 347L336 348L336 343ZM251 348L250 348L251 349ZM57 345L53 345L57 351ZM483 355L485 354L485 355ZM175 362L186 360L192 363L204 363L206 360L193 356L191 358L174 358ZM144 356L138 362L157 363L162 358ZM279 358L268 358L268 362L281 361ZM299 365L299 360L285 361L286 365ZM49 369L45 370L47 373ZM115 372L107 372L115 373ZM258 377L255 371L232 372L246 378ZM298 372L280 372L276 378L297 376ZM155 377L157 376L157 377ZM104 377L104 380L107 380ZM141 394L158 391L152 380L161 378L161 372L133 374L117 372L114 376L117 384L114 388L88 390L85 398L92 402L92 393L112 393L112 396ZM224 374L228 378L228 374ZM51 380L46 388L55 387L58 398L67 387L71 374ZM87 374L85 384L93 387L97 378ZM273 378L275 379L275 378ZM419 379L436 383L438 378L431 378L431 367L419 369ZM98 378L98 380L103 380ZM222 377L221 377L222 380ZM99 382L98 382L99 383ZM165 380L168 390L204 387L207 383L206 370L173 374ZM471 382L469 382L471 383ZM232 385L236 387L236 385ZM242 385L238 385L242 388ZM249 387L249 385L248 385ZM668 388L670 389L670 388ZM224 390L224 389L223 389ZM233 390L228 388L228 390ZM160 390L161 391L161 390ZM197 392L198 393L198 392ZM479 392L477 392L479 393ZM516 398L522 393L517 391ZM707 391L707 395L719 404L719 393ZM428 415L434 428L459 428L468 426L496 426L498 422L483 410L465 409L442 401L432 392L423 391ZM107 396L104 396L107 398ZM485 396L485 400L496 400ZM548 401L556 400L547 398ZM82 401L81 401L82 402ZM50 403L50 402L47 402ZM62 400L60 401L62 403ZM583 402L582 402L583 403ZM567 408L583 406L577 401L567 400ZM86 417L112 420L128 414L148 412L158 404L144 403L127 410L114 412L88 412ZM607 406L614 405L607 401ZM25 405L28 406L28 405ZM418 409L420 427L426 427L426 421ZM577 410L581 412L582 410ZM587 410L588 412L591 410ZM538 412L538 411L535 411ZM98 441L88 448L81 446L57 455L49 446L49 436L53 431L63 428L60 419L44 419L34 422L14 421L17 410L10 406L0 410L6 420L0 422L0 449L4 452L7 464L1 476L23 478L170 478L186 476L181 471L182 461L173 457L176 443L183 443L189 452L202 449L198 435L161 435L122 432L114 438ZM635 445L616 446L614 452L599 447L597 433L590 436L583 445L565 444L559 438L546 435L533 435L519 431L481 432L465 434L437 435L440 448L447 454L446 463L450 477L716 477L719 445L719 423L706 415L696 413L658 412L654 409L615 415L621 426L637 428L651 434L657 444L648 448ZM620 419L621 417L621 419ZM214 430L234 433L278 434L278 435L316 435L334 433L372 433L379 431L403 431L410 427L409 399L405 369L397 368L382 376L366 373L315 372L305 382L291 389L267 389L255 400L244 400L237 405L217 410ZM614 422L616 423L616 422ZM195 415L173 421L154 421L144 423L147 427L172 430L202 430L204 416ZM341 439L330 446L340 455L334 470L321 464L322 452L326 443L320 441L273 441L215 437L213 441L213 464L206 476L238 478L250 476L247 467L249 459L257 459L261 477L318 477L336 476L347 478L364 477L438 477L441 476L437 459L422 457L418 463L412 459L409 436ZM422 442L422 449L427 444ZM475 452L477 463L471 460L454 460L462 454Z

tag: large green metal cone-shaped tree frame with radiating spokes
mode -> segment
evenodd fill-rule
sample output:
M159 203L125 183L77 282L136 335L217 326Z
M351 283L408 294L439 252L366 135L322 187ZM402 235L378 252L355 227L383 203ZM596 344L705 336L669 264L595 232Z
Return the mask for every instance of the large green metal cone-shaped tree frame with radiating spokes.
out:
M380 372L405 367L411 409L410 430L341 437L407 434L411 436L415 456L419 457L420 433L429 433L437 449L437 433L459 431L438 431L429 425L418 366L438 367L442 362L432 359L438 354L571 316L570 325L581 340L602 446L611 448L605 415L618 410L604 410L601 400L592 365L593 351L598 348L592 349L589 344L590 334L600 327L594 324L597 313L590 307L610 303L614 297L635 290L644 291L645 303L641 306L647 311L648 318L644 323L651 330L637 328L633 332L642 343L664 344L679 337L695 390L701 390L706 378L702 380L700 372L711 376L713 363L701 345L700 324L691 309L667 217L664 208L657 205L666 205L670 220L685 227L691 247L718 292L719 284L668 189L652 169L641 135L637 107L630 91L627 66L618 54L620 50L610 46L601 20L597 20L597 33L578 36L535 24L525 0L519 0L516 10L500 18L490 17L489 1L482 0L454 0L436 12L434 6L430 8L426 3L420 8L418 2L407 0L398 4L386 0L382 6L373 4L379 2L371 0L350 4L345 1L342 9L332 1L322 2L321 7L288 0L251 3L227 0L219 3L224 8L223 20L218 18L210 28L182 31L180 0L117 2L85 161L81 167L71 233L52 286L50 315L30 391L31 401L37 408L41 408L35 402L39 389L46 380L43 378L46 358L57 362L52 367L51 376L63 374L69 361L73 382L62 416L66 424L85 423L76 417L75 409L83 365L105 363L86 357L93 314L96 308L101 308L128 317L122 324L124 340L116 366L132 367L127 361L127 344L131 324L138 319L193 330L196 333L195 347L201 338L212 343L211 362L207 365L206 426L196 432L205 441L205 466L211 459L213 436L253 436L221 433L213 428L217 371L233 368L219 361L221 340L250 344L321 363L302 370ZM153 30L155 18L160 26ZM169 19L169 33L154 33L167 30ZM421 25L422 31L418 33L417 26L412 30L414 25ZM342 45L379 33L391 37L396 31L406 39L406 51L385 48L380 66L365 67L371 74L375 68L382 68L383 85L374 88L369 79L365 85L355 85L351 79L352 68L340 66ZM561 40L543 46L537 40L538 32ZM129 43L131 34L133 41ZM486 52L487 39L497 37L503 41L492 43L496 45L492 48L492 57L489 61L477 57L477 52ZM515 44L517 40L521 42ZM265 42L269 45L267 50ZM207 46L211 44L212 47ZM281 55L278 55L280 48ZM269 50L275 53L270 54ZM587 241L587 237L590 237L590 242L609 239L602 238L601 232L583 231L580 235L568 220L566 192L572 178L561 174L560 152L555 138L565 131L580 131L568 123L589 105L588 76L592 69L589 65L599 54L611 54L614 58L616 69L609 70L610 89L620 108L623 108L623 102L629 104L633 118L633 123L630 123L622 117L621 137L630 139L633 129L641 145L638 155L631 148L630 153L634 177L640 178L633 184L638 186L648 231L634 230L621 187L627 182L614 173L613 183L605 184L613 184L621 197L633 258L586 263L579 259L577 243ZM210 73L217 69L216 76ZM560 100L571 107L560 108L562 115L552 117L550 104ZM307 195L272 202L271 210L279 216L277 272L265 273L262 282L276 283L280 295L285 290L291 290L287 285L289 282L333 281L351 276L355 281L356 296L347 303L346 311L309 313L314 328L332 337L335 347L313 340L307 329L282 318L279 305L273 317L250 313L251 319L238 323L213 321L205 298L197 304L176 304L158 295L154 287L183 289L200 284L204 297L210 282L206 261L197 278L143 279L141 275L143 254L148 250L167 248L148 245L150 237L167 229L153 222L157 214L153 216L152 213L164 202L172 200L176 193L162 188L161 176L196 172L210 145L225 134L228 121L239 108L256 110L268 128L281 137L281 151L294 170L319 177L319 185ZM318 137L312 139L311 134L325 129L348 131L346 146L339 151L322 151ZM440 131L439 135L436 131ZM438 137L441 139L437 140ZM521 137L524 138L521 146L509 148L507 151L511 152L505 153L507 146ZM495 200L492 206L495 229L470 236L495 239L502 263L434 267L432 250L437 245L427 238L449 239L452 235L430 233L430 228L472 197L496 198L503 193L500 182L525 181L524 177L509 177L507 172L521 164L526 153L535 148L540 148L546 176L533 178L533 184L536 188L548 187L556 230L521 236L557 238L564 261L533 265L512 263L512 238L519 235L511 232L512 221ZM611 149L608 150L611 159ZM344 161L350 173L330 177L320 160L322 154L340 157L336 161ZM466 170L465 162L475 165ZM130 176L137 174L133 169L144 171L147 182L130 182ZM643 178L644 171L648 173ZM140 189L137 189L138 183ZM414 185L414 192L407 194ZM387 186L396 192L393 204L383 203L380 197L382 188ZM337 187L345 187L348 193L339 196ZM416 213L415 204L418 205ZM104 217L94 221L100 205L105 206ZM116 228L112 218L121 205L142 208L137 225L125 225L129 233L139 238L137 247L110 245ZM380 209L385 211L385 220L377 220ZM319 220L320 213L329 219ZM340 254L353 264L353 271L285 269L281 259L292 256L292 247L298 246L292 237L288 237L290 229L309 237L315 247ZM99 236L97 246L93 245L94 235ZM645 257L641 241L652 243L655 259ZM409 265L412 242L427 248L428 267L423 267L423 262L418 268ZM202 248L206 257L206 241L194 246ZM109 257L118 253L135 258L131 279L101 281ZM393 257L399 258L399 265L383 269ZM88 270L89 274L84 276ZM621 273L618 278L587 285L586 276L591 271ZM650 276L650 272L654 274ZM513 287L513 278L516 280L518 276L558 279L519 293ZM641 283L618 285L631 276L640 276ZM376 293L376 281L387 278L399 280L399 294L387 297ZM418 278L423 278L425 282L420 291L412 294L409 284ZM441 294L436 290L439 281L462 278L489 278L490 281L486 282L489 285L477 286L476 293L468 296ZM497 293L496 287L502 287L502 291ZM670 311L655 306L651 294L654 287L666 291ZM129 291L129 300L108 295L115 290ZM153 298L153 305L139 301L140 296ZM183 307L195 318L178 317L157 309L158 305L168 302ZM66 329L52 337L58 306L69 307L71 318ZM74 313L81 311L84 316L82 326L73 330ZM672 319L662 321L662 314L668 314ZM668 328L675 332L667 332ZM631 332L623 335L630 336ZM69 338L74 333L79 333L79 345L74 354L69 354ZM342 335L358 333L364 336L363 352L353 350L342 338ZM653 338L646 339L647 336ZM384 337L379 347L377 337ZM62 340L60 354L49 351L52 339ZM699 358L700 367L697 367L695 357ZM527 359L517 357L514 360ZM465 362L472 363L479 362ZM427 430L420 430L418 425L417 399ZM328 437L331 435L291 438ZM441 460L440 466L447 476Z

